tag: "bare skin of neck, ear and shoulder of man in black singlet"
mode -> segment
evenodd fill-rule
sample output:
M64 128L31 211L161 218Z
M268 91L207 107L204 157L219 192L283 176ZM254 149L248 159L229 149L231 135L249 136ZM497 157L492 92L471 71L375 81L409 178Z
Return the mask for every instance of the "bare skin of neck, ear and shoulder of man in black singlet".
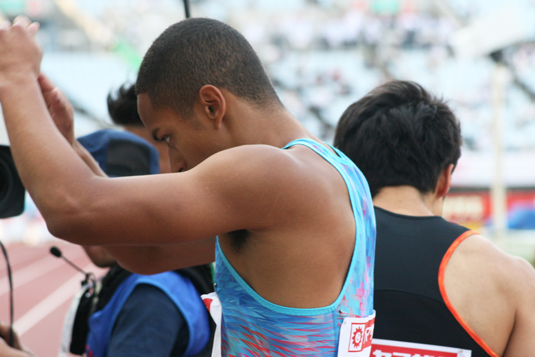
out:
M376 207L405 216L441 216L453 165L442 171L435 192L383 187ZM535 356L535 270L481 235L455 249L444 272L451 305L497 356Z

